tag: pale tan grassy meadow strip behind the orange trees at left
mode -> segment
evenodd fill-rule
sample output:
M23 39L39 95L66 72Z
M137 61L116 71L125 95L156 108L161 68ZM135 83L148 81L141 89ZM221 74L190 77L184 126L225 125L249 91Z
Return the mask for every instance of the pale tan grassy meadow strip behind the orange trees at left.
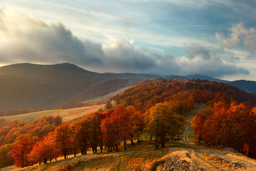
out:
M93 113L98 111L100 108L104 108L105 104L103 105L92 105L88 107L82 108L72 108L66 110L44 110L36 113L25 113L21 115L11 115L11 116L2 116L5 120L24 120L26 123L29 123L33 120L43 117L43 115L61 115L63 122L71 122L72 120L76 120L78 118L82 118L89 113Z

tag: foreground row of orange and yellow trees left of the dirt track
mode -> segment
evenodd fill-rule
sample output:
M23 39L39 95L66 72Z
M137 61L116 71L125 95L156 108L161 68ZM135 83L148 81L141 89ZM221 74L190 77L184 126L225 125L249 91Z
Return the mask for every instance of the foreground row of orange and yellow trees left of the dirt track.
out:
M103 149L113 152L122 144L127 150L127 142L135 145L133 140L140 142L142 133L151 138L156 148L164 147L169 140L181 139L184 124L183 116L174 113L168 103L158 103L147 113L135 111L133 106L117 105L106 112L58 125L43 138L21 135L14 143L12 157L16 166L26 167L51 162L59 156L66 159L78 152L86 155L89 148L93 153Z

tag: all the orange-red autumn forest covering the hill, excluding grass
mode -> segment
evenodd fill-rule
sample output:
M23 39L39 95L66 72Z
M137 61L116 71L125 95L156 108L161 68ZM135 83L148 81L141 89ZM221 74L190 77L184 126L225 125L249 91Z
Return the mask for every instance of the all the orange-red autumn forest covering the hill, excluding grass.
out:
M155 148L181 140L185 115L205 104L191 120L196 138L208 145L233 147L255 157L256 98L224 83L148 81L113 97L116 108L91 113L73 123L43 117L32 123L0 122L0 166L26 167L87 150L118 151L128 142L150 141ZM227 136L228 135L228 136Z

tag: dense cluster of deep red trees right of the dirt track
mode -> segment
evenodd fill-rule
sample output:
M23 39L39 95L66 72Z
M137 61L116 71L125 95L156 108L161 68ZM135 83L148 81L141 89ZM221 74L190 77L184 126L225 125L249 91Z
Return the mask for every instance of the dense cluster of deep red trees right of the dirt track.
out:
M232 147L256 157L256 108L219 101L200 110L191 120L195 138L208 145Z

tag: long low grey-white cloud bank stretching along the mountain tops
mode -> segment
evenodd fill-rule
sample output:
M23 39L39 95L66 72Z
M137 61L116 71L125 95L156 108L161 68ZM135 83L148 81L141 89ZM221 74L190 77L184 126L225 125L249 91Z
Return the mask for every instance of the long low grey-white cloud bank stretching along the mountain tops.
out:
M200 43L185 46L187 56L159 53L147 47L135 48L124 38L110 45L82 40L63 24L46 24L34 16L0 11L0 63L74 63L103 72L155 73L161 75L204 74L231 76L248 74L245 68L226 64Z

